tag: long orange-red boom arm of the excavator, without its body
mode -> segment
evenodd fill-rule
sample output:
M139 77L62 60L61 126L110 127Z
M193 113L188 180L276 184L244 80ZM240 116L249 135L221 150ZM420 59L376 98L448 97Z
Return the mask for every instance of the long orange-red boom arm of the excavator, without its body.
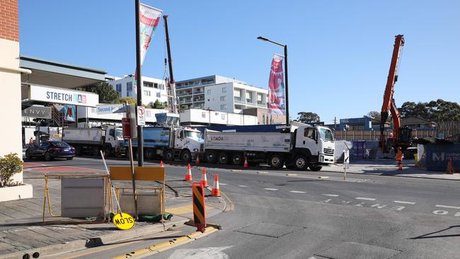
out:
M401 128L401 115L396 108L396 103L393 98L394 93L394 84L398 81L398 64L401 58L401 50L404 45L404 35L396 35L393 54L391 56L390 70L388 74L388 79L386 80L386 88L384 93L384 103L381 105L381 119L380 119L380 146L385 150L385 137L384 129L385 122L391 113L391 118L393 120L393 145L398 146L400 142L400 128Z

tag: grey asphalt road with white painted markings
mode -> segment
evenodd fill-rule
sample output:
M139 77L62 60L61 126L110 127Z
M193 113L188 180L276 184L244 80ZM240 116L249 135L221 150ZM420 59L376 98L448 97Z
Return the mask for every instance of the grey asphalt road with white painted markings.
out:
M100 160L88 158L35 163L103 169ZM344 181L343 175L327 168L320 172L231 168L208 168L211 175L219 173L222 192L233 205L231 211L209 219L223 229L149 258L460 256L458 181L357 174ZM185 167L166 165L166 173L170 178L183 178ZM192 174L199 180L197 169ZM173 231L180 235L194 230ZM84 258L122 255L161 240L146 238Z

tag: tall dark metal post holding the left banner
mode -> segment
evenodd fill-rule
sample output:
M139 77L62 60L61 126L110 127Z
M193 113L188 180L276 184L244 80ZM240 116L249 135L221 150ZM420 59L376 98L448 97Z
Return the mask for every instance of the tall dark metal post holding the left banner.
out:
M140 36L140 25L139 25L139 0L136 0L135 3L136 3L136 84L137 84L137 105L142 106L141 39L140 39L141 36ZM142 126L141 125L137 125L137 165L138 166L144 166L144 138L143 138L143 135L142 135Z

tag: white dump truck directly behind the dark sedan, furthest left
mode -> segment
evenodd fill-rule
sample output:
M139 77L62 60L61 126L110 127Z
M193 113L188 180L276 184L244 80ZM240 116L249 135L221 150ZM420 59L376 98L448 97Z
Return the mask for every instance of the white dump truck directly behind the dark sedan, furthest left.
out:
M102 150L104 156L120 155L120 146L124 140L122 128L114 125L104 125L92 128L67 128L62 134L62 141L75 147L77 155L99 155Z

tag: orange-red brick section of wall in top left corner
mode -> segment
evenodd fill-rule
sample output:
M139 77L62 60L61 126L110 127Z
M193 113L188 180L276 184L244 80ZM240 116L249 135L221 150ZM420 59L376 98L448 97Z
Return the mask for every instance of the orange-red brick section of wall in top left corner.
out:
M18 0L0 0L0 39L19 42Z

